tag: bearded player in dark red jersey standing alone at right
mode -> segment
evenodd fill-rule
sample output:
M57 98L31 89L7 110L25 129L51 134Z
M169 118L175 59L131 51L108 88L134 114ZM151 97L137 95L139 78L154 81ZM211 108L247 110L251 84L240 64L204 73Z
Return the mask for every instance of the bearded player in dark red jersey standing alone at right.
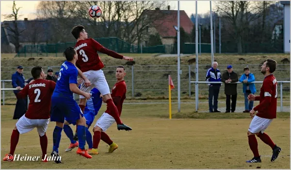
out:
M273 155L271 161L275 161L281 152L281 148L275 145L272 139L264 133L266 128L271 124L273 119L276 118L277 111L277 81L272 73L276 70L277 62L272 59L267 59L262 65L261 73L265 76L263 84L260 88L259 96L250 94L248 99L250 101L259 100L259 105L250 111L250 115L253 118L248 132L248 141L250 148L254 154L248 163L261 162L259 151L258 151L258 141L256 136L259 137L264 143L269 145L273 150ZM255 112L258 111L256 115Z

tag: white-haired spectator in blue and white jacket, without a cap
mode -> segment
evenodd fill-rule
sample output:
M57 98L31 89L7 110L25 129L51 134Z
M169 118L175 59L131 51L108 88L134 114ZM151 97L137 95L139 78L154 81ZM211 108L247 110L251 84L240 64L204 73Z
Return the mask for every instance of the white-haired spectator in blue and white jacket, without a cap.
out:
M213 62L212 63L212 67L210 69L208 69L207 73L206 73L206 81L207 82L220 82L221 80L221 74L220 71L217 69L218 63L217 62ZM209 103L209 112L221 112L219 110L217 110L218 108L218 94L219 94L219 90L220 90L220 86L221 83L216 84L216 83L210 83L209 85L209 95L208 95L208 103ZM214 98L213 101L213 105L212 105L212 100Z

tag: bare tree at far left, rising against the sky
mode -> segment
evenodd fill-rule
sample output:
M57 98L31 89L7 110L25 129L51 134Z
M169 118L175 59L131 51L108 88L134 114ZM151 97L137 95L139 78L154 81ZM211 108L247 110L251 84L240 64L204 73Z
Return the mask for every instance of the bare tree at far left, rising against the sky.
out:
M15 40L14 45L15 45L16 53L19 52L19 47L20 47L19 36L21 35L23 31L25 31L25 29L23 30L18 29L17 20L21 16L18 14L19 10L20 10L20 7L16 8L16 3L15 1L13 1L12 14L4 15L5 19L13 21L12 26L10 24L7 24L4 27L8 30L8 36L12 37Z

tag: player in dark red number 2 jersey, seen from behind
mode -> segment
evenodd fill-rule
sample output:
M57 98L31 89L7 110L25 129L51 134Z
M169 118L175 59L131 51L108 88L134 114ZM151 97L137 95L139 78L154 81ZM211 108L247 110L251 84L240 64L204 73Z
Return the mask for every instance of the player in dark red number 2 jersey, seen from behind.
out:
M35 127L39 135L40 147L42 150L42 161L48 162L46 158L48 138L46 131L49 124L50 100L56 83L45 80L45 73L41 66L32 68L34 80L26 85L21 92L17 93L17 98L29 96L29 106L27 112L17 121L10 139L10 152L6 154L3 161L13 161L13 155L18 143L19 134L32 131Z

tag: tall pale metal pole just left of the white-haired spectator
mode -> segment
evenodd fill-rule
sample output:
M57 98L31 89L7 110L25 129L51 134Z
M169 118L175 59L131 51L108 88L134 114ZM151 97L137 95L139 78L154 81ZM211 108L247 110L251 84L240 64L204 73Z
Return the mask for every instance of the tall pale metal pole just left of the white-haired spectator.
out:
M197 0L196 0L196 28L195 28L195 44L196 44L196 81L198 81L198 7L197 7ZM200 34L201 35L201 34ZM201 51L201 36L200 36L200 51ZM198 84L195 84L195 108L198 111Z

